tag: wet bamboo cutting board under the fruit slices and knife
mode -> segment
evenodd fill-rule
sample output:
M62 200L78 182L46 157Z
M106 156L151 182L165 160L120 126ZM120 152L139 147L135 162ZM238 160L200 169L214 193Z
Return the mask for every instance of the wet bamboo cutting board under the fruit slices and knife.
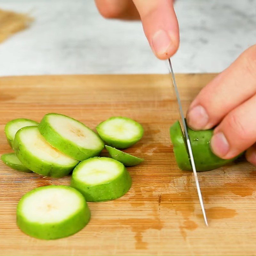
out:
M214 75L177 75L184 108ZM256 171L238 160L199 173L209 220L204 225L191 172L176 165L169 126L179 117L168 75L23 76L0 78L0 154L11 152L4 124L40 121L56 112L91 128L110 116L140 122L143 139L126 150L145 158L130 167L133 185L122 198L89 203L90 223L74 236L43 241L23 234L15 210L22 195L70 177L19 173L0 163L1 255L255 255ZM105 154L105 153L104 153Z

